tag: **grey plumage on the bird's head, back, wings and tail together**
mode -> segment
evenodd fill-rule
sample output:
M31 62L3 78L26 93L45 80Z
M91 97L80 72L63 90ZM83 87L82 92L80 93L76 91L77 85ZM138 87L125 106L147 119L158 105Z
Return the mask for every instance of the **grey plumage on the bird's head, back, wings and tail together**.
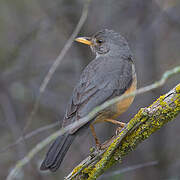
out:
M102 39L103 43L95 41ZM127 41L112 30L103 30L92 36L91 46L96 58L84 69L67 105L62 126L86 116L96 106L123 94L132 84L133 61ZM93 121L93 120L92 120ZM71 143L79 132L87 128L82 124L58 137L51 145L41 170L56 171Z

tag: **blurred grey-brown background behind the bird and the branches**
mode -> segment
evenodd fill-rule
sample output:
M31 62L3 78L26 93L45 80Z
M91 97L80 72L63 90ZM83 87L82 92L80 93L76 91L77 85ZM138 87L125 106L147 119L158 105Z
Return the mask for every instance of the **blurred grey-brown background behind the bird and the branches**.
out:
M37 143L59 129L73 87L83 68L94 58L85 45L73 43L25 131L30 137L9 146L22 136L39 96L40 84L73 32L83 3L83 0L0 1L0 179L5 179L15 163ZM92 0L79 35L89 36L104 28L120 32L128 39L135 57L138 87L153 83L163 72L180 64L179 0ZM137 96L119 119L129 121L141 107L150 105L178 84L179 79L180 75L173 76L163 87ZM53 128L37 133L37 129L51 125ZM32 134L34 131L35 135ZM103 142L113 135L114 126L96 125L96 131ZM180 117L177 117L141 143L122 164L111 168L108 176L101 179L180 179L179 142ZM57 173L39 170L48 150L46 147L23 168L17 179L63 179L88 155L93 145L90 131L76 138ZM9 148L5 148L7 146ZM152 161L156 165L111 174Z

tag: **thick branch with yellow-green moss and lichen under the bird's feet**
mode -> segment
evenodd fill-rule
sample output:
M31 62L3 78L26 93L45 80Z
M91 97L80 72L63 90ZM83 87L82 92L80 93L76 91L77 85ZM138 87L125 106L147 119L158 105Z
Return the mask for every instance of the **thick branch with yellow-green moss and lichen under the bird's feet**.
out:
M180 84L157 99L151 106L140 109L118 135L103 144L102 150L91 153L65 179L97 179L179 113Z

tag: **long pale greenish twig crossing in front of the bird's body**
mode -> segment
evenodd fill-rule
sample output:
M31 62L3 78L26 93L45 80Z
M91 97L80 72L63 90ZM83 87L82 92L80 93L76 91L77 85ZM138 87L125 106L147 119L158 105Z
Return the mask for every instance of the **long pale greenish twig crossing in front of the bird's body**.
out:
M11 180L13 179L14 177L16 177L17 173L21 170L21 168L27 164L34 156L35 154L37 154L41 149L43 149L47 144L49 144L51 141L53 141L55 138L57 138L58 136L64 134L65 132L67 132L68 130L72 129L72 128L76 128L78 127L79 125L81 124L85 124L87 123L89 120L91 120L92 118L94 118L98 112L100 112L101 110L107 108L108 106L116 103L117 101L121 101L125 98L128 98L130 96L135 96L135 95L138 95L138 94L142 94L142 93L145 93L145 92L148 92L150 90L153 90L155 88L158 88L160 86L162 86L169 77L171 77L172 75L174 74L177 74L177 73L180 73L180 66L177 66L175 68L173 68L172 70L169 70L169 71L166 71L162 78L149 85L149 86L146 86L146 87L143 87L143 88L140 88L132 93L129 93L129 94L125 94L125 95L122 95L120 97L116 97L112 100L109 100L105 103L103 103L102 105L100 106L97 106L96 108L94 108L87 116L85 116L84 118L81 118L80 120L68 125L67 127L65 128L61 128L59 131L56 131L55 133L53 133L51 136L47 137L45 140L43 140L42 142L38 143L28 154L27 156L25 156L22 160L18 161L15 165L15 167L12 169L12 171L10 172L10 174L8 175L7 177L7 180Z

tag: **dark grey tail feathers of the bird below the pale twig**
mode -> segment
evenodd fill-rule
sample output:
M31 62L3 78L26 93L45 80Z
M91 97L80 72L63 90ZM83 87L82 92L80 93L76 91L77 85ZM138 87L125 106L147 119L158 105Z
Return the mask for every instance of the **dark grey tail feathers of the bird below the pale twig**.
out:
M41 170L55 172L61 165L62 160L76 135L64 134L59 136L49 148L46 158L41 164Z

